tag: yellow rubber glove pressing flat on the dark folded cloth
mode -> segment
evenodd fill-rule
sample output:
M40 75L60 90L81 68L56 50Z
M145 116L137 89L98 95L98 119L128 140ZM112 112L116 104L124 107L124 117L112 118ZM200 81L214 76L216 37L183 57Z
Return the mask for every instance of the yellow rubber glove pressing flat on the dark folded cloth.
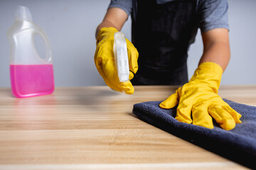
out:
M242 115L231 108L218 96L218 88L223 69L214 62L203 62L198 66L187 84L178 88L165 101L161 108L174 108L178 104L176 120L213 128L213 120L225 130L235 128ZM192 112L192 118L191 118ZM212 118L211 118L212 117Z

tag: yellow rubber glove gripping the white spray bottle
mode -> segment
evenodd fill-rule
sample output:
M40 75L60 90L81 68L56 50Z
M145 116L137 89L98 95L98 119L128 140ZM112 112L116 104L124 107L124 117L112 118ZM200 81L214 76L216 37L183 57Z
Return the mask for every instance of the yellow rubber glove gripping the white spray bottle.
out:
M107 86L115 91L124 91L126 94L133 94L134 87L131 81L126 81L124 83L119 82L117 75L117 68L114 62L114 33L118 30L116 28L108 27L101 28L97 35L97 47L95 51L95 65L98 72L104 79ZM127 52L129 60L129 79L134 77L134 74L138 70L138 57L139 53L134 47L132 42L126 39L127 42Z

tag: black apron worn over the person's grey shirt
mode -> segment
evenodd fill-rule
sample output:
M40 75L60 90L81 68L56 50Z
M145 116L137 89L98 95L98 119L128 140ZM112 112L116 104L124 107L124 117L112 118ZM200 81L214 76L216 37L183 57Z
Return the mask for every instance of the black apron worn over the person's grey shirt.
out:
M198 30L196 0L134 0L132 43L139 52L134 85L182 85L188 82L188 47Z

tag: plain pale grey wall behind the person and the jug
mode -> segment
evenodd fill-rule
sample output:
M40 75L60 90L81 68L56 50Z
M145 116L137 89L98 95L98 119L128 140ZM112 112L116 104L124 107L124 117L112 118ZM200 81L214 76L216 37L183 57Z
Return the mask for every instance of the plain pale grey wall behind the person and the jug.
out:
M221 84L256 84L256 1L229 0L231 60ZM9 87L9 41L16 6L27 6L53 50L55 86L105 85L94 64L95 28L107 11L108 0L0 0L0 87ZM131 19L122 32L131 40ZM40 44L40 40L38 41ZM41 52L42 48L38 47ZM188 53L191 78L203 52L201 33ZM43 54L43 53L42 53Z

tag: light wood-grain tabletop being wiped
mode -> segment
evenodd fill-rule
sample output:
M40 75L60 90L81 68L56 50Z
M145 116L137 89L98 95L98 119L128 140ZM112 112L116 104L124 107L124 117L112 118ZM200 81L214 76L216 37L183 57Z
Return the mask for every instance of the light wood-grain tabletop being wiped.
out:
M162 101L175 89L58 87L33 98L0 89L0 169L246 169L132 113L134 103ZM256 86L221 86L219 95L256 106Z

